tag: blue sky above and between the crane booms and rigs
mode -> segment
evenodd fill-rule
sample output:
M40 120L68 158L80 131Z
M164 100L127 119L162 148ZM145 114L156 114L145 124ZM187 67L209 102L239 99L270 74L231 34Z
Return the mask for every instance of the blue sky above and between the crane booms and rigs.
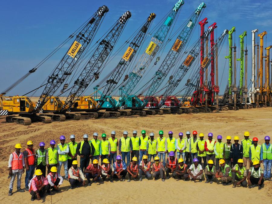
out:
M184 20L196 9L202 1L185 0L185 3L180 11L176 26L180 26ZM244 31L248 32L247 47L248 47L248 83L251 76L251 30L258 29L259 33L267 31L265 45L272 44L272 21L271 9L272 1L245 1L245 0L229 0L215 1L206 0L206 9L202 14L208 18L208 25L213 22L217 23L217 31L219 36L224 29L236 27L236 45L238 47L238 35ZM118 45L130 36L136 28L138 28L148 17L151 12L156 13L157 17L154 20L153 26L160 21L161 18L173 7L176 0L165 1L4 1L2 2L0 26L2 32L2 49L0 51L0 91L7 88L11 83L15 82L23 76L28 70L32 69L39 63L48 53L57 47L64 39L66 39L76 28L86 21L98 7L107 5L109 12L105 16L95 39L99 39L108 28L127 10L132 14L126 28L120 37ZM201 20L202 20L201 19ZM197 27L193 34L191 43L199 36L199 28ZM145 48L150 41L145 42ZM173 39L175 40L175 39ZM172 41L173 41L172 40ZM170 43L165 48L165 55L170 49ZM41 66L35 73L29 76L23 83L9 92L7 95L21 95L38 86L44 81L53 68L57 65L63 54L68 50L70 45L67 45L50 60ZM106 66L100 79L103 78L112 68L116 66L121 56L125 52L125 47L111 63ZM227 80L227 68L223 72L225 64L224 56L227 53L227 45L222 48L219 55L219 79L222 74L223 80L220 87L220 93L224 92ZM141 53L143 50L141 50ZM139 55L141 55L141 53ZM140 56L139 56L140 57ZM227 62L228 64L228 62ZM143 80L143 84L150 80L152 74L157 70L155 66L150 74ZM181 82L184 84L184 82ZM92 84L86 93L92 92ZM42 90L38 91L35 96L39 96Z

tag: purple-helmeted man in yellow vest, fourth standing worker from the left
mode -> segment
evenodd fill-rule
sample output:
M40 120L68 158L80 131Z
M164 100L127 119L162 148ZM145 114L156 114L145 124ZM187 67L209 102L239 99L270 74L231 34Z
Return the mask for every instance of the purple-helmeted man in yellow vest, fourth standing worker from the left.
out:
M50 147L47 148L45 153L47 173L50 173L52 167L59 165L59 153L57 147L55 147L56 141L50 140Z

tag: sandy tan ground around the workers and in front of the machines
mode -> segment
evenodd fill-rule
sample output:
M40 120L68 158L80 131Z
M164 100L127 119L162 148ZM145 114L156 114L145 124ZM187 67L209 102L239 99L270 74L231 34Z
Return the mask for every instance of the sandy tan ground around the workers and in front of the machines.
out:
M112 130L116 131L117 138L122 136L124 130L128 130L129 136L132 131L140 132L145 129L147 133L154 131L155 137L158 137L158 131L164 130L174 132L174 137L178 138L178 133L185 133L187 130L196 130L198 133L205 134L207 138L208 132L213 132L214 135L221 134L223 138L227 135L238 135L240 140L243 137L244 131L250 131L251 138L257 136L264 142L264 136L272 136L272 108L255 108L249 110L226 111L220 113L199 113L199 114L182 114L182 115L154 115L154 116L130 116L120 118L105 118L105 119L90 119L79 121L64 121L52 122L50 124L32 123L28 126L18 124L8 124L5 118L0 118L0 203L28 203L30 202L29 192L14 193L8 196L8 157L14 151L14 145L21 143L25 148L26 142L32 140L35 149L38 148L38 143L44 141L46 148L49 146L49 141L54 139L59 141L60 135L65 135L67 138L70 134L76 134L76 141L81 141L84 133L92 135L93 132L101 134L106 133L108 136ZM167 134L165 135L167 136ZM225 140L223 140L225 141ZM22 149L23 150L23 149ZM79 159L78 159L79 160ZM63 175L63 169L61 175ZM22 177L21 187L24 188L24 176ZM177 203L180 200L197 203L210 203L219 201L221 203L255 203L255 198L261 199L262 203L271 202L271 187L272 182L265 181L264 188L248 189L232 186L221 186L216 183L205 184L194 183L190 181L176 181L173 178L162 182L161 180L143 180L114 183L105 182L103 184L92 184L88 187L80 187L68 190L69 183L64 181L61 186L61 193L52 196L52 203L147 203L160 202ZM16 180L14 184L16 189ZM251 194L251 195L250 195ZM138 200L140 199L140 201ZM40 201L50 203L50 196L46 196Z

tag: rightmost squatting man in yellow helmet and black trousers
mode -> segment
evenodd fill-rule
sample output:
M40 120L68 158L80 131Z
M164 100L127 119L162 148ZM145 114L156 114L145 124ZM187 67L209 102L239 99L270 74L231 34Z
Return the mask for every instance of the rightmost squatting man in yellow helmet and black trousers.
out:
M264 184L264 170L260 167L260 161L254 160L253 167L248 171L248 188L258 186L259 190Z

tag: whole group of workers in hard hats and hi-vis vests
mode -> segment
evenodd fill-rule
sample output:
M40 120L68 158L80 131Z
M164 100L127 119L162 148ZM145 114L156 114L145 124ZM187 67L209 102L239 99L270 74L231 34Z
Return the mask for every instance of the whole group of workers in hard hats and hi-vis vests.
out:
M162 130L157 139L154 139L153 132L147 137L145 130L141 131L141 137L137 136L135 130L132 137L128 137L128 131L124 131L119 141L115 134L112 131L108 139L106 134L102 134L102 140L98 139L97 132L93 133L91 140L88 134L84 134L83 141L79 143L75 142L74 134L70 135L68 143L65 136L61 135L60 144L56 147L54 140L50 141L47 149L44 148L45 143L40 142L40 148L36 151L32 141L27 142L23 152L21 144L16 144L15 152L10 154L8 161L11 177L8 195L12 195L16 175L17 192L24 192L21 189L21 176L25 170L25 190L30 192L32 201L39 200L45 192L51 195L63 183L63 177L60 176L62 166L64 179L69 181L71 189L84 186L86 179L88 186L101 179L125 181L127 174L128 182L136 180L138 176L139 181L142 181L143 176L165 181L170 178L170 174L176 180L202 182L205 175L205 183L217 180L218 184L233 184L234 188L248 185L249 188L258 186L261 189L264 180L271 181L272 146L269 136L265 136L265 143L260 145L257 137L252 140L249 138L248 131L244 132L241 144L238 143L238 136L234 137L234 143L231 142L231 136L227 136L227 142L224 143L221 135L215 141L213 134L209 133L208 139L204 140L204 134L200 133L197 138L196 131L193 131L193 137L187 131L186 138L180 132L178 139L173 138L172 131L165 138ZM77 156L80 157L79 166ZM152 157L154 162L151 163ZM260 163L264 164L264 169ZM250 167L248 170L247 164Z

